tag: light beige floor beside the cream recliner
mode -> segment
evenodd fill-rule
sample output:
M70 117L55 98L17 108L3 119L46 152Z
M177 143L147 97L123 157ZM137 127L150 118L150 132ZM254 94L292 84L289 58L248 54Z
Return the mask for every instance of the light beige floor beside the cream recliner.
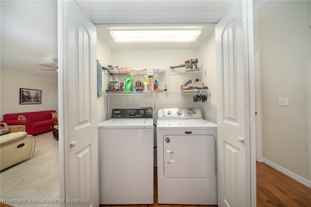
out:
M59 198L58 141L52 132L35 136L35 153L28 160L0 172L0 202L23 200L15 207L57 207ZM27 200L25 200L27 199Z

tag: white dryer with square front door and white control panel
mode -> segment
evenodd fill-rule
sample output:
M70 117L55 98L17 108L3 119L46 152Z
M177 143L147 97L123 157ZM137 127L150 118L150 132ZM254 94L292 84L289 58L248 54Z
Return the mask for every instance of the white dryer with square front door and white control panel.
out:
M199 108L158 109L159 204L217 205L217 125Z

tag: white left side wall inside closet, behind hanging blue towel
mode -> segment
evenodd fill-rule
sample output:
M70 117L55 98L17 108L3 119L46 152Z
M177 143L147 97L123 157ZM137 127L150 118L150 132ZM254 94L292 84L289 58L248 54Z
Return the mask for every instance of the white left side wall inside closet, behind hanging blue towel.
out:
M108 46L104 43L104 41L101 39L99 35L97 35L97 59L101 63L102 66L107 68L107 65L111 64L111 51L108 48ZM104 70L102 70L102 88L103 92L106 89L106 85L108 83L108 79L104 74ZM106 120L106 95L104 94L102 97L97 98L97 117L98 117L98 123L103 122Z

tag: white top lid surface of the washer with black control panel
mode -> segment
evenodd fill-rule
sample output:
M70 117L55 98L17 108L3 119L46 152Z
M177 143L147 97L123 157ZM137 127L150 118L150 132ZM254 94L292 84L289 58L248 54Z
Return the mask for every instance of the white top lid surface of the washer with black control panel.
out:
M99 123L98 129L152 129L153 119L110 119Z

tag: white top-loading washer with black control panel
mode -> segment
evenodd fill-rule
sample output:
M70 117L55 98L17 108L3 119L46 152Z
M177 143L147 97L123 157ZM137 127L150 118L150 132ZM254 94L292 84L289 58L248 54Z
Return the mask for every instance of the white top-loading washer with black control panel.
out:
M113 109L98 124L100 204L154 203L152 109Z

